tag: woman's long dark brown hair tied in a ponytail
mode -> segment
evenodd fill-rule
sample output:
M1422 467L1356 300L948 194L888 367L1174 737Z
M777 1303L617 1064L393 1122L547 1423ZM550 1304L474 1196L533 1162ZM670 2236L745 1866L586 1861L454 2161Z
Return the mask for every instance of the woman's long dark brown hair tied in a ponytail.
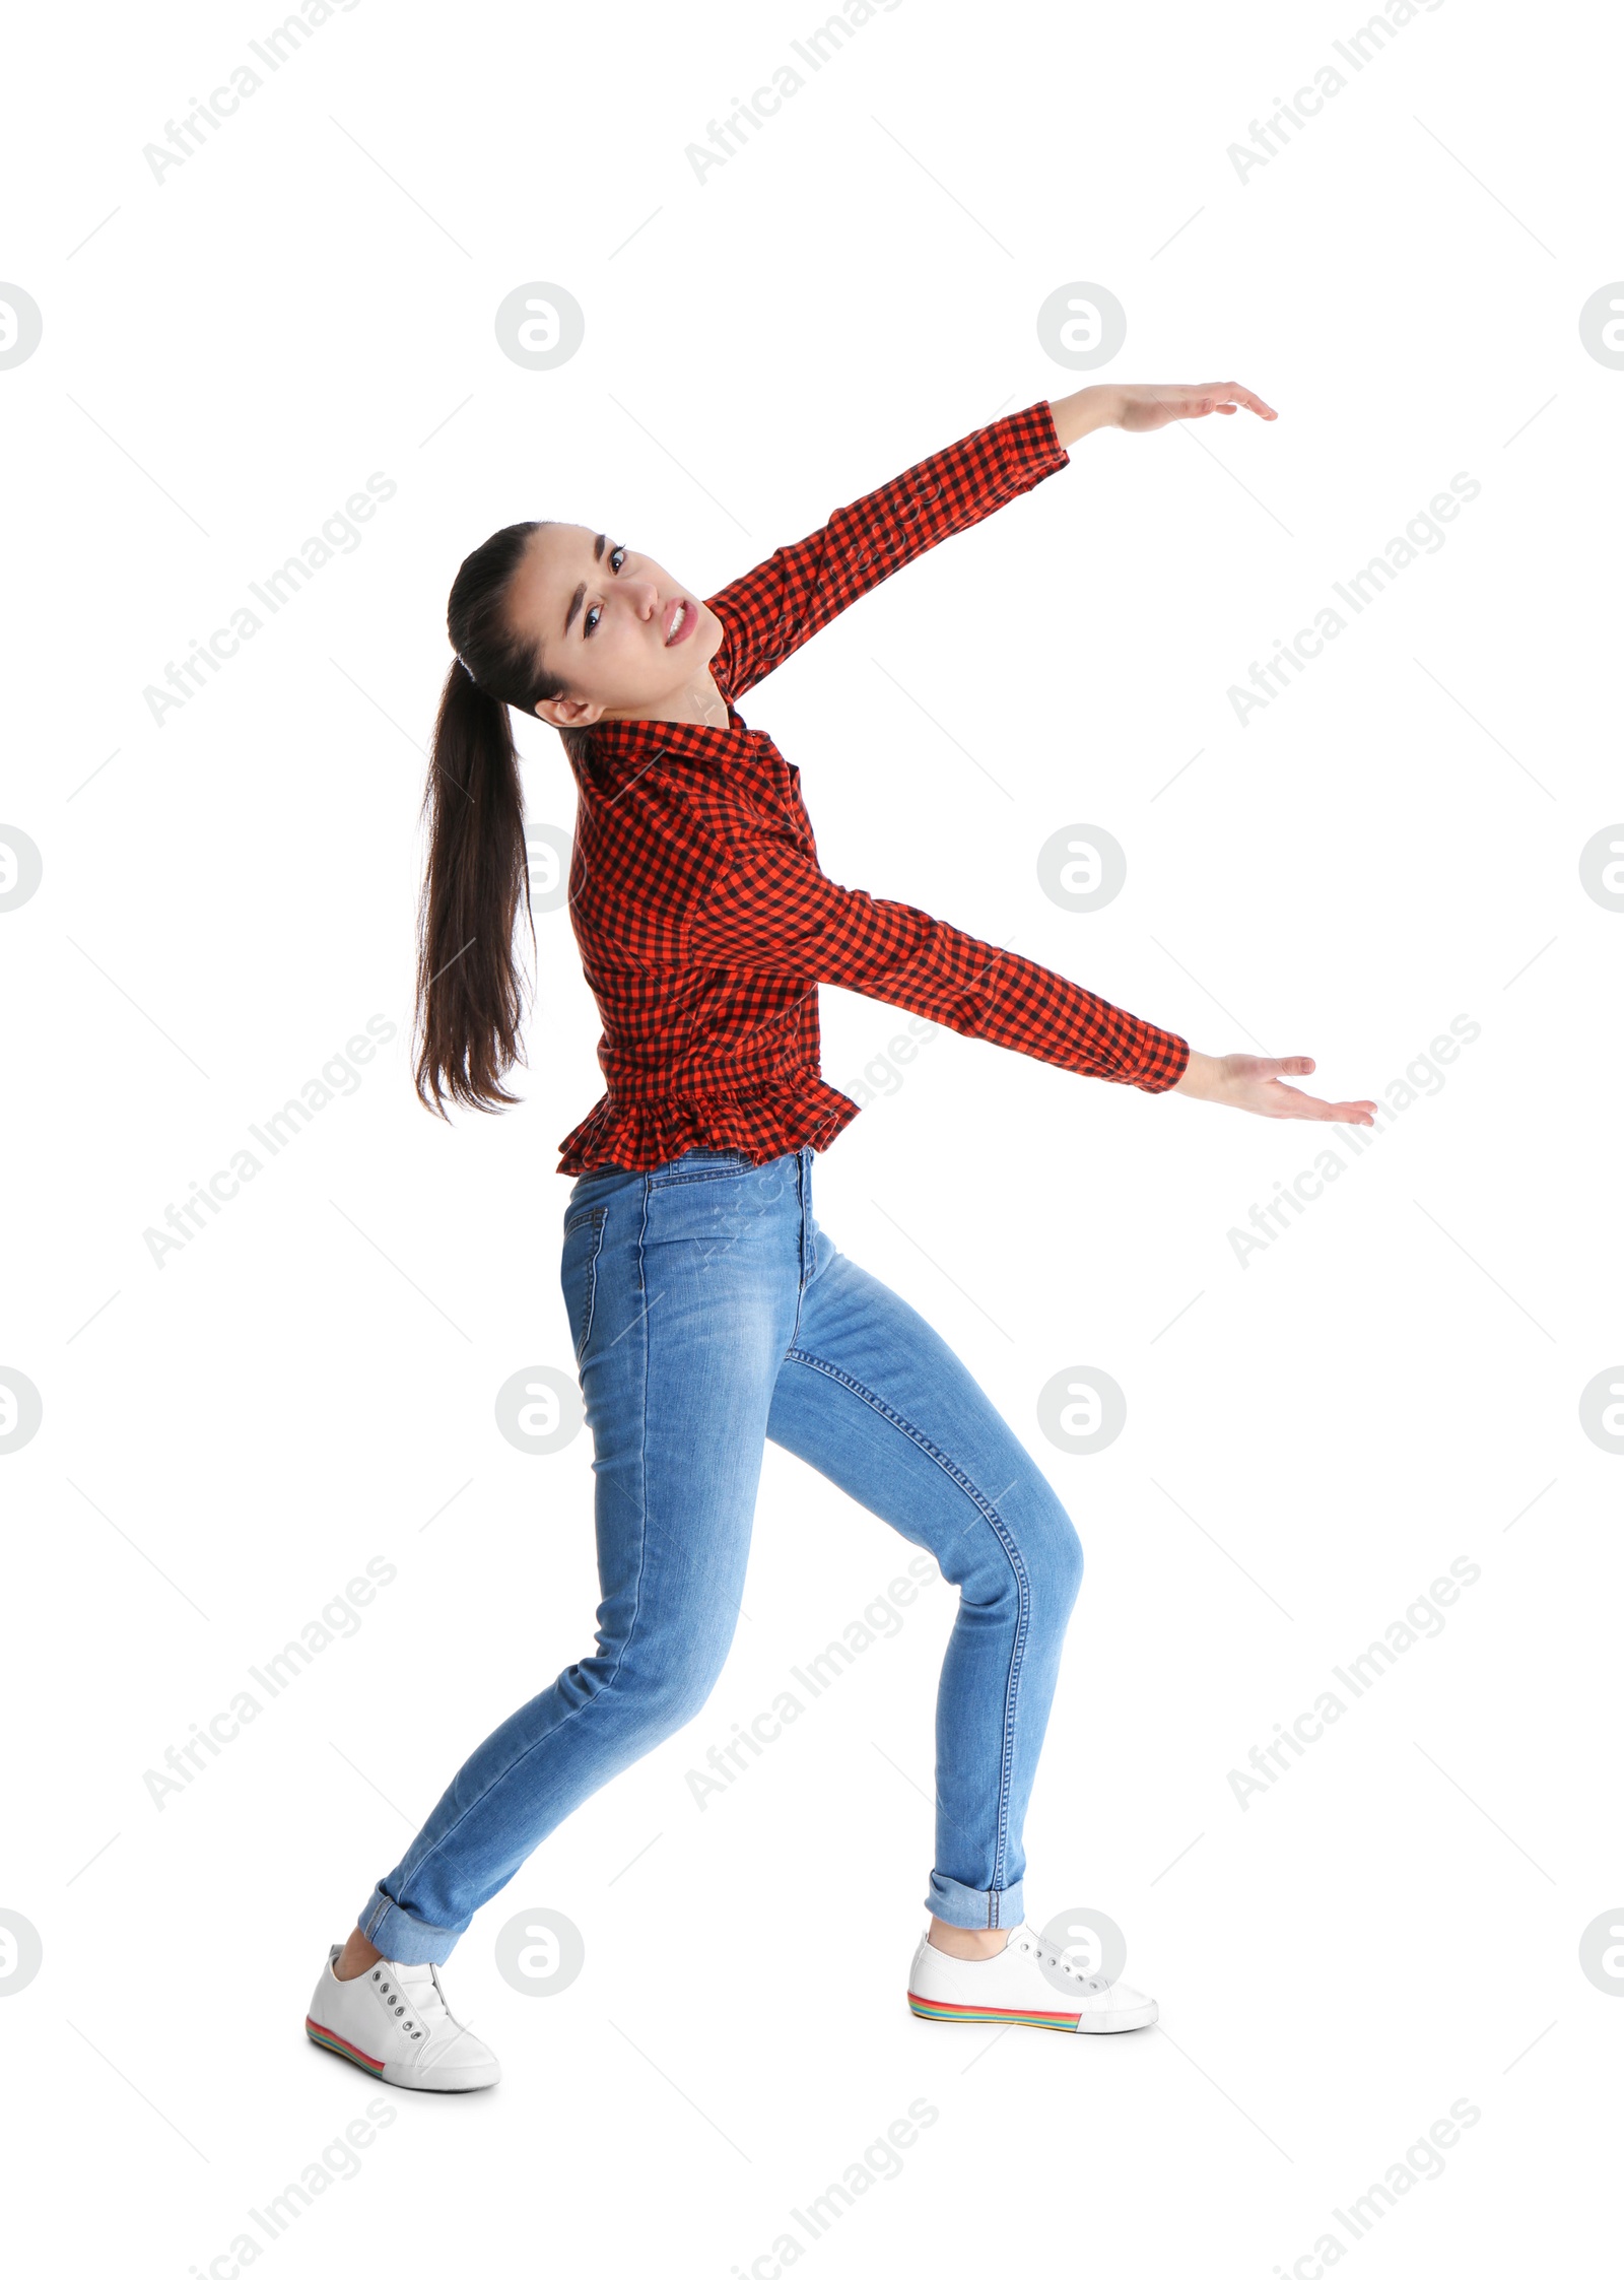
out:
M502 1085L522 1062L520 969L513 921L520 896L529 921L525 791L509 705L534 716L566 684L541 650L506 620L506 591L534 531L511 522L461 565L445 609L456 657L433 723L422 814L429 864L417 910L417 1097L445 1115L447 1097L465 1108L511 1108ZM559 730L573 746L582 730Z

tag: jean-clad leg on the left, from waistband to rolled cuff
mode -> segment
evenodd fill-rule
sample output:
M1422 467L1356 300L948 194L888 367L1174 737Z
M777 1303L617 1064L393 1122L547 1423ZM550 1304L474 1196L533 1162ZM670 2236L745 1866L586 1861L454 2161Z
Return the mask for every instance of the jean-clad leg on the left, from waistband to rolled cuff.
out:
M598 1651L479 1744L367 1897L358 1929L385 1956L442 1963L547 1831L714 1687L796 1316L798 1188L794 1156L705 1151L570 1190L561 1275L595 1448Z

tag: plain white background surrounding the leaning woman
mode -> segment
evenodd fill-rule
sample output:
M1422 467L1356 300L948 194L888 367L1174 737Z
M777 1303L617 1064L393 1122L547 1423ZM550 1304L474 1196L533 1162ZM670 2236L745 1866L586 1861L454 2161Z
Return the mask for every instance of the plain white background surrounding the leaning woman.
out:
M43 310L0 372L0 823L43 857L0 914L0 1363L43 1402L0 1473L0 1906L43 1940L0 2004L30 2264L249 2269L246 2212L376 2095L301 2031L326 1943L591 1646L586 1436L531 1457L493 1423L515 1370L570 1361L554 1154L600 1078L563 914L522 1108L447 1129L408 1083L456 563L559 515L712 593L1083 385L1036 335L1079 278L1129 317L1093 378L1239 378L1277 424L1079 442L746 720L801 764L833 878L1204 1051L1309 1051L1316 1088L1382 1097L1480 1024L1245 1268L1229 1229L1312 1163L1305 1124L944 1035L819 1158L826 1231L951 1338L1077 1518L1029 1913L1111 1913L1163 2027L910 2018L942 1587L696 1808L687 1769L906 1569L769 1450L716 1694L447 1970L502 2086L390 2093L360 2173L253 2237L274 2271L766 2280L789 2209L928 2100L837 2246L798 2234L814 2269L1309 2280L1330 2212L1469 2100L1444 2175L1343 2255L1574 2259L1624 2031L1578 1968L1624 1902L1624 1466L1578 1427L1624 1350L1624 919L1578 880L1624 812L1624 374L1578 335L1624 274L1615 25L1421 11L1241 182L1227 146L1357 9L903 0L700 185L684 146L817 9L363 0L160 185L144 144L276 21L34 9L7 55L0 274ZM586 312L557 372L497 349L525 280ZM141 691L374 470L397 495L360 547L160 727ZM1442 552L1239 725L1229 684L1462 470L1483 488ZM522 748L534 819L568 830L557 741ZM1127 850L1090 917L1036 878L1070 823ZM160 1268L144 1229L370 1015L395 1042L360 1090ZM839 992L823 1021L846 1088L903 1028ZM1036 1420L1077 1363L1127 1395L1081 1457ZM157 1810L148 1767L367 1557L397 1578L360 1632ZM1241 1810L1229 1772L1457 1557L1480 1580L1446 1630ZM586 1943L550 2000L493 1961L538 1906Z

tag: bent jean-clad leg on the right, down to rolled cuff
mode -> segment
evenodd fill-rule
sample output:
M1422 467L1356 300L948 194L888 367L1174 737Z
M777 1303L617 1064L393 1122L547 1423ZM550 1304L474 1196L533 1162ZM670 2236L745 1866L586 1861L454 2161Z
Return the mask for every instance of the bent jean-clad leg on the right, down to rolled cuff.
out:
M1022 1819L1083 1571L1077 1530L931 1325L817 1227L812 1247L766 1434L960 1587L935 1712L926 1908L942 1924L1008 1929L1024 1915Z

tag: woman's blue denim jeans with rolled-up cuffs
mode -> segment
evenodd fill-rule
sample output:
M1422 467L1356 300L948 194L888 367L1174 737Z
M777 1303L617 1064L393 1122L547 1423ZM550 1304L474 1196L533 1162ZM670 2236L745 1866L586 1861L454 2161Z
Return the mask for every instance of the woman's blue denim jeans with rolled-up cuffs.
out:
M363 1933L442 1963L547 1831L693 1719L732 1644L762 1443L931 1553L960 1601L935 1708L944 1924L1020 1924L1022 1822L1083 1555L969 1370L812 1218L812 1149L588 1172L563 1300L593 1434L598 1651L479 1744ZM819 1879L821 1890L862 1879Z

